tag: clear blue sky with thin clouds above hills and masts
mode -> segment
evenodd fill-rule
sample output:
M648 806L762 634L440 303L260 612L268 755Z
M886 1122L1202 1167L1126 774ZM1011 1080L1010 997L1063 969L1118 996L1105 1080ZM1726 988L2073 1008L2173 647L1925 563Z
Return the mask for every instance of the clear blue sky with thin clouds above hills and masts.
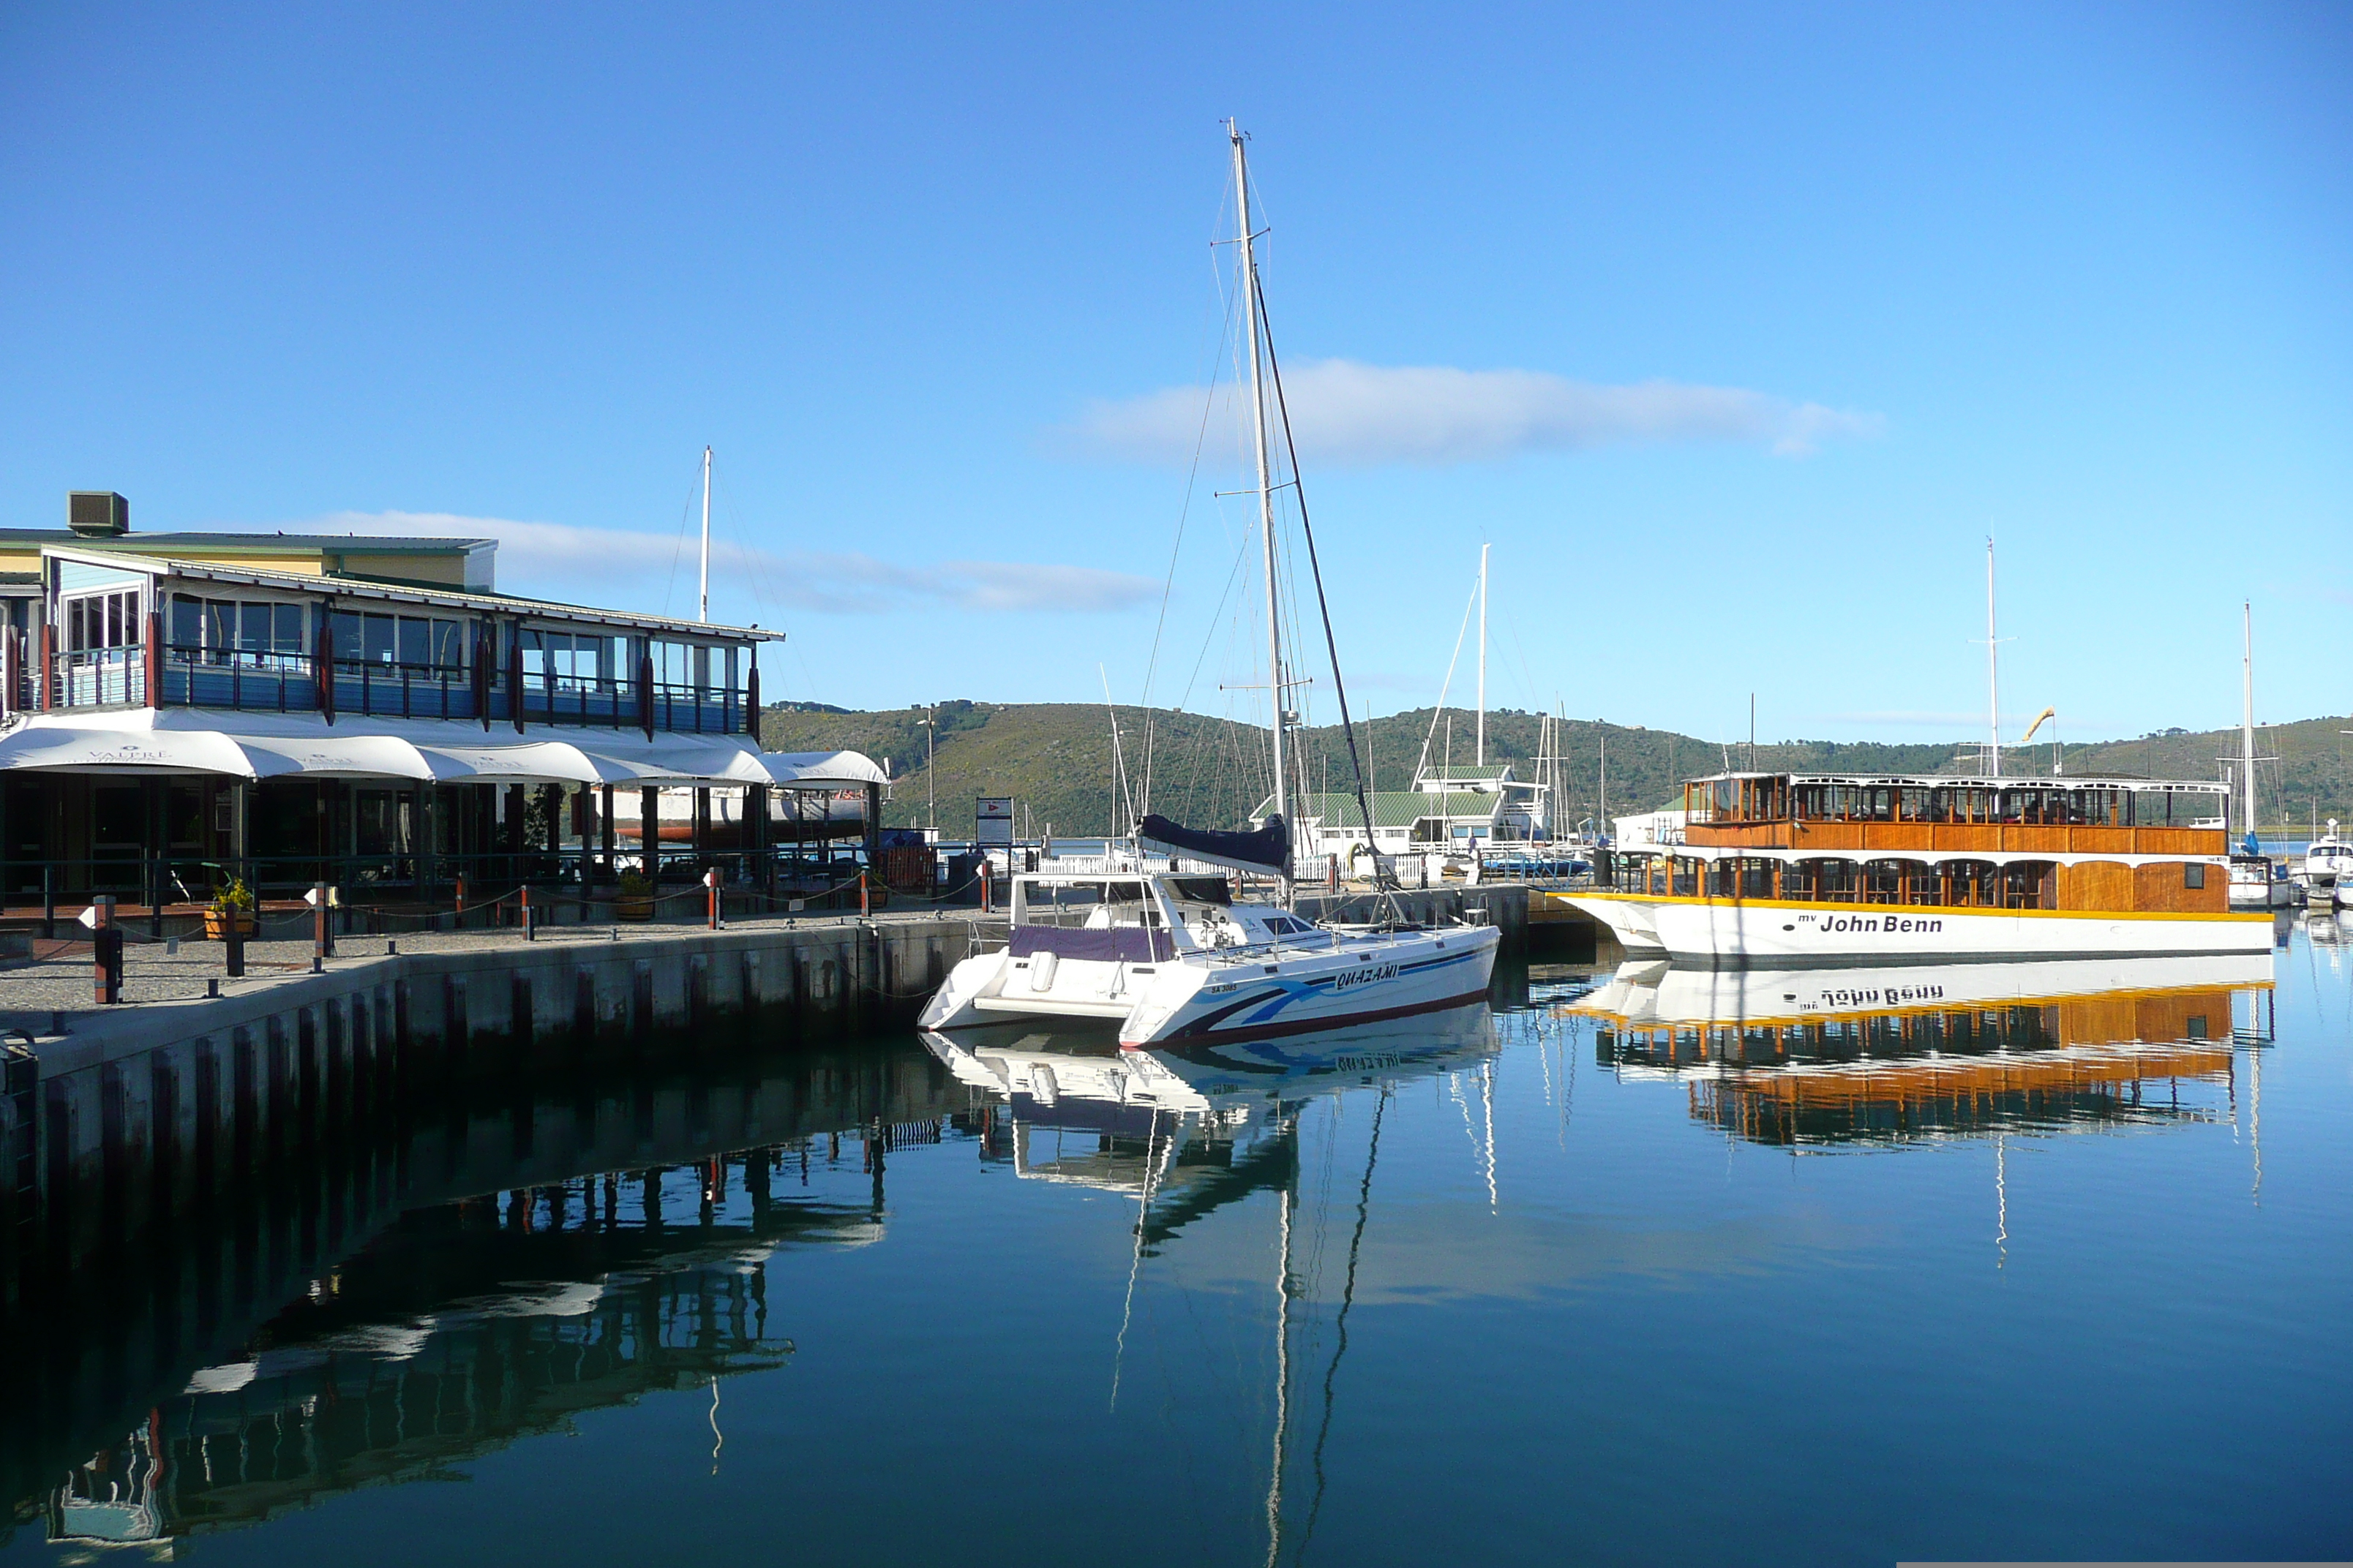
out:
M1224 115L1369 708L1485 541L1497 705L1974 736L1991 531L2012 733L2235 722L2242 597L2353 710L2344 7L9 7L0 508L685 611L711 442L845 705L1136 701L1184 512L1252 712Z

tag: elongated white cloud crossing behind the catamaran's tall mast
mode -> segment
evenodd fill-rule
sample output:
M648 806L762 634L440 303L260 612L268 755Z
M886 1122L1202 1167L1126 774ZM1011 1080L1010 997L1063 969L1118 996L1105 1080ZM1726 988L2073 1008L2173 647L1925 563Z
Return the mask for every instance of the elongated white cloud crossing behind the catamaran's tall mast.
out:
M1318 360L1292 369L1285 393L1301 461L1348 465L1480 463L1657 442L1762 444L1779 456L1809 456L1824 440L1885 428L1878 414L1729 386L1593 386L1525 369ZM1181 463L1200 437L1205 395L1198 386L1174 386L1094 402L1075 435L1122 458ZM1221 400L1228 395L1231 388L1219 388ZM1219 428L1212 421L1212 433Z

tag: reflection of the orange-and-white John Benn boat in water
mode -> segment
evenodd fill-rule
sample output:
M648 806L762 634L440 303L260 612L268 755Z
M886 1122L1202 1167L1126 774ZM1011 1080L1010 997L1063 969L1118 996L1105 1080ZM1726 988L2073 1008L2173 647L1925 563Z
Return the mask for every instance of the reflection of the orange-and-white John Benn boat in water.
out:
M1619 1077L1767 1145L1873 1145L2226 1117L2268 1041L2271 954L1889 969L1626 964L1562 1011ZM2184 1086L2191 1093L2184 1095Z

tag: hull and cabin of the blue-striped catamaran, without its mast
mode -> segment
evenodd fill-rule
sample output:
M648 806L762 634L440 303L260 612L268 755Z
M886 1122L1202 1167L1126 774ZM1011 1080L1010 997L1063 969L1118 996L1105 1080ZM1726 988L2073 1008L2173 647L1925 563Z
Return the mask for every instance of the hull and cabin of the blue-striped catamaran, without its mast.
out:
M1304 1034L1475 1001L1499 940L1473 924L1315 926L1209 875L1026 872L1005 947L948 971L918 1023L1099 1018L1127 1046Z

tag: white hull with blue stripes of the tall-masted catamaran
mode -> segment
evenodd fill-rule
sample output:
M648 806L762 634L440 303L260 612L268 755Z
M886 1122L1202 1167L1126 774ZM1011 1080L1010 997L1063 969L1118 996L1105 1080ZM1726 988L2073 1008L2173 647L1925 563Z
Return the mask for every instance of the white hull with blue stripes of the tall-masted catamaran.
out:
M1454 926L1341 938L1320 952L1061 959L1045 985L1033 966L1000 950L948 971L918 1023L965 1030L1012 1018L1096 1018L1118 1025L1122 1046L1308 1034L1478 1001L1499 943L1494 926Z

